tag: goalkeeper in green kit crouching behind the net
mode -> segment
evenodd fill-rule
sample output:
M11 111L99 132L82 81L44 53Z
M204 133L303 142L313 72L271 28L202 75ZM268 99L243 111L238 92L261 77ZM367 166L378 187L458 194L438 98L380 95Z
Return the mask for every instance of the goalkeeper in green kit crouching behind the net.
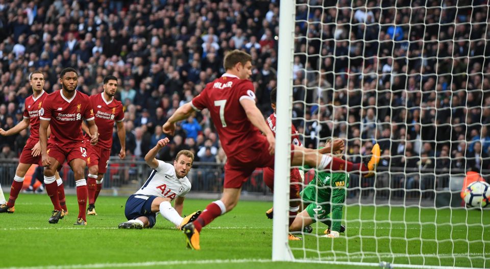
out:
M376 144L373 147L379 148ZM377 149L376 149L377 150ZM335 157L341 157L341 152L334 152ZM305 166L306 169L310 167ZM289 231L301 231L303 227L320 221L329 228L325 237L337 238L339 233L346 230L340 225L342 208L346 200L346 188L349 186L349 174L331 173L330 171L315 171L315 178L301 191L300 197L306 208L299 213L289 226Z

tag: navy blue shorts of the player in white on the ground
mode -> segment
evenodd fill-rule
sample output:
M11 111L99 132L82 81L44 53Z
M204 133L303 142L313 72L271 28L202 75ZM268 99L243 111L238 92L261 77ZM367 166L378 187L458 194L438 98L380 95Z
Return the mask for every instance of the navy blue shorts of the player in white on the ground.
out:
M145 216L150 220L149 228L155 226L157 215L156 213L152 213L152 203L155 198L157 198L155 195L131 195L128 198L128 201L126 201L126 207L124 209L124 214L126 215L128 221L130 219Z

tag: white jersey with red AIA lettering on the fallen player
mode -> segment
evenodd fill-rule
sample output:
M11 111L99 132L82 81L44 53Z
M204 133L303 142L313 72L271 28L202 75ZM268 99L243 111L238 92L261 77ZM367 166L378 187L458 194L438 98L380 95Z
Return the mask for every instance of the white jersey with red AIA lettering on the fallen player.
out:
M189 191L189 179L187 177L177 178L174 165L158 160L158 167L152 171L144 185L134 194L155 195L174 200L176 195L185 197Z

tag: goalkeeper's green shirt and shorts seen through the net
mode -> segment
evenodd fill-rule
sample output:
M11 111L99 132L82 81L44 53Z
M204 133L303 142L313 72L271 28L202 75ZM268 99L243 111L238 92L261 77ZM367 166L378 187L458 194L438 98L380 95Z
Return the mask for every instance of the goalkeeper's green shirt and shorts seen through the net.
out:
M308 167L305 167L308 168ZM308 204L306 210L310 217L324 222L332 231L340 231L342 208L346 200L346 187L349 186L349 174L318 172L315 178L301 191L301 198Z

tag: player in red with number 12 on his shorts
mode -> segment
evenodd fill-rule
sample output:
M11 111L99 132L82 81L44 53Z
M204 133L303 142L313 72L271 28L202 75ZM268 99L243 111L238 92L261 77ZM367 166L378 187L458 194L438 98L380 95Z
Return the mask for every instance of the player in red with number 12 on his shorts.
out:
M82 120L87 120L92 135L90 143L97 143L97 126L94 122L92 105L89 97L77 91L78 74L74 68L68 67L60 73L62 89L46 97L39 111L41 119L39 141L44 168L44 184L51 198L54 210L49 223L58 223L64 213L58 200L55 171L65 160L71 166L77 186L79 207L75 225L87 225L85 208L87 205L87 182L84 179L87 159L86 142L82 134ZM47 127L51 127L50 140L47 141Z

